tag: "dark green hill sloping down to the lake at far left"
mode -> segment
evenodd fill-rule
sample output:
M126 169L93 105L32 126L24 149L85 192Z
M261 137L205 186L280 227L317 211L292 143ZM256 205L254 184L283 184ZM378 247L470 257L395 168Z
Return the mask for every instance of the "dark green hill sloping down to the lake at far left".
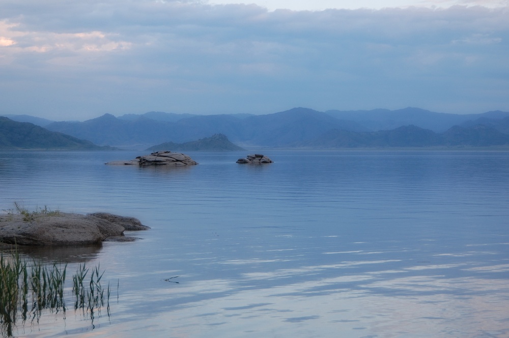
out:
M109 150L90 141L0 117L0 149Z

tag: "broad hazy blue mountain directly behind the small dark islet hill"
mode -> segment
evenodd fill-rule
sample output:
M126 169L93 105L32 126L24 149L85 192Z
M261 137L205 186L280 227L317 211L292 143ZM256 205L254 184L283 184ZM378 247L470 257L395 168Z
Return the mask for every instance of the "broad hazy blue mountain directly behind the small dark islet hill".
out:
M333 118L323 112L294 108L269 115L196 115L175 122L139 116L116 118L105 114L84 122L53 122L47 128L86 138L100 145L145 149L163 142L183 143L212 134L228 135L242 146L285 146L310 140L331 128L363 131L356 122Z

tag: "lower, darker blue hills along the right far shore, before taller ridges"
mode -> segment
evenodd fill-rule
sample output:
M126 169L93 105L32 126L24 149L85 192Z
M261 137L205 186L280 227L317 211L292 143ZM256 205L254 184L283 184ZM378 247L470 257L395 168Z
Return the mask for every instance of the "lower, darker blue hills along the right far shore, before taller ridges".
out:
M434 146L494 146L509 144L509 135L494 128L476 125L468 128L454 126L444 133L435 133L416 126L393 130L355 133L330 130L315 140L295 146L322 149L356 147L434 147Z

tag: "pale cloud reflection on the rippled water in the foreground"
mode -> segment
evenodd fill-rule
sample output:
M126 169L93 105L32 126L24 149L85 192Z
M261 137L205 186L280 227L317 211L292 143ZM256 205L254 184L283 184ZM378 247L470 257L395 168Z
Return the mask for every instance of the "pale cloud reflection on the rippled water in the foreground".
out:
M162 297L170 301L171 294L177 297L178 293L182 298L200 293L199 301L152 313L143 327L118 334L136 336L150 329L162 336L168 328L175 337L474 337L486 332L504 336L507 332L506 322L500 320L506 317L506 300L496 296L507 292L505 282L464 295L465 289L486 288L486 282L458 279L444 284L438 275L389 279L383 285L365 276L359 276L359 280L364 280L360 288L350 284L357 281L357 276L346 276L344 281L290 282L247 290L239 290L234 281L228 280L191 283ZM421 290L422 286L426 290ZM404 295L399 292L401 288L414 292L408 295L405 291ZM152 297L155 300L161 295ZM472 313L476 315L471 316ZM108 334L115 334L114 328L104 328L102 335Z

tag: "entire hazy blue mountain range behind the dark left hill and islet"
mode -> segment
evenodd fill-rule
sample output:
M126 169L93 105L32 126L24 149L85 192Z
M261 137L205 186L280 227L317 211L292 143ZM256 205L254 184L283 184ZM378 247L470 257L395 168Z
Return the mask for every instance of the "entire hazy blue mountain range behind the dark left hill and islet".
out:
M509 112L460 115L411 107L325 112L293 108L266 115L104 114L83 122L51 122L45 128L99 145L130 149L165 142L183 144L214 134L226 135L245 148L509 144Z

